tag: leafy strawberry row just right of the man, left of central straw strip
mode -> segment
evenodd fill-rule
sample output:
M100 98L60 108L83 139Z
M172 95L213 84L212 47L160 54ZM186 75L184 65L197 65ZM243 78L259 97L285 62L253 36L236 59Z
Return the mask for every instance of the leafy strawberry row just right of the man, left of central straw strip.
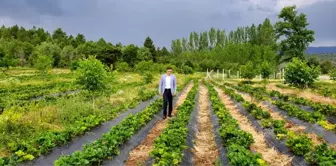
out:
M154 149L150 153L155 159L154 165L177 165L183 158L183 149L188 135L187 126L195 107L195 97L198 91L198 82L194 82L194 87L186 100L177 108L176 117L169 120L168 127L155 140Z

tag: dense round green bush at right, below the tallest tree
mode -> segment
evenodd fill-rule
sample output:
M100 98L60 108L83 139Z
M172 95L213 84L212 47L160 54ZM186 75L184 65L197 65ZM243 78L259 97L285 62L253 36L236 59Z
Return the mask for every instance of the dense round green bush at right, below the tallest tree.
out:
M319 67L309 67L307 62L293 58L285 68L285 82L303 88L313 85L319 74Z

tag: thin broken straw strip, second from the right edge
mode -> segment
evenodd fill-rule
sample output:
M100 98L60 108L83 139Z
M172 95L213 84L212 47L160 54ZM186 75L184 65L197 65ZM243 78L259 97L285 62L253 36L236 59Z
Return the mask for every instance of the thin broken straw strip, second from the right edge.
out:
M236 93L240 94L245 100L251 101L251 96L248 94L242 94L236 91ZM296 125L292 122L288 122L286 119L283 118L282 115L278 112L274 112L273 110L269 109L266 105L262 104L261 102L252 101L251 103L256 104L257 106L261 107L264 111L268 111L271 114L272 119L275 120L284 120L286 122L285 127L286 129L293 131L295 133L304 133L306 127L301 125ZM318 138L318 136L314 133L309 133L308 137L313 140L314 145L322 144L324 141Z

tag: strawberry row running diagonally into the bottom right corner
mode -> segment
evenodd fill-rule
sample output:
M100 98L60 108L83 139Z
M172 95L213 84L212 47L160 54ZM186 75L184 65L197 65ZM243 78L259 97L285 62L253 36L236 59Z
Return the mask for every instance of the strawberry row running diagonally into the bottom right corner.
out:
M223 88L226 89L225 87ZM235 92L232 92L232 94L240 96ZM304 155L306 161L311 164L336 164L336 151L328 147L326 143L314 146L312 139L306 134L297 134L289 131L285 127L285 121L272 119L269 112L264 111L261 107L248 101L244 101L243 105L247 112L257 119L263 128L273 129L277 139L285 140L286 146L291 149L295 155Z

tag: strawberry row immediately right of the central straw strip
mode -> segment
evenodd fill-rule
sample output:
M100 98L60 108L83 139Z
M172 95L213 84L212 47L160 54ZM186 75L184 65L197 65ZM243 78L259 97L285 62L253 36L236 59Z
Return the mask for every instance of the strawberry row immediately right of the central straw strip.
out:
M259 153L249 150L254 143L253 136L239 129L238 121L234 119L224 104L221 102L217 91L208 85L212 109L218 116L219 134L227 148L227 157L232 166L267 165ZM230 90L227 90L230 91Z

